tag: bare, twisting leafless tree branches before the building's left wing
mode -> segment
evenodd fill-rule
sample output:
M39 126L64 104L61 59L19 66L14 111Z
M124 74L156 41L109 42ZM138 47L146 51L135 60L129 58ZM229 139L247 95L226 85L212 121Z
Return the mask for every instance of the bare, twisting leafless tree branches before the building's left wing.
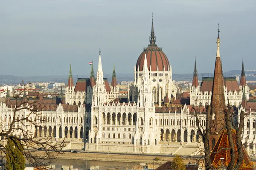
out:
M23 83L24 87L26 85ZM0 117L0 151L5 154L5 145L8 139L14 142L17 139L22 144L23 155L30 164L41 166L50 164L56 158L56 153L63 153L61 150L65 146L64 140L54 141L52 137L37 137L36 127L47 119L42 115L42 104L39 96L31 99L26 97L25 88L21 91L15 91L12 94L12 105L3 103L3 107L8 109L9 117L3 115ZM23 97L21 97L23 96ZM21 116L22 115L22 116ZM15 143L16 144L16 143ZM35 154L35 150L42 148L40 154Z

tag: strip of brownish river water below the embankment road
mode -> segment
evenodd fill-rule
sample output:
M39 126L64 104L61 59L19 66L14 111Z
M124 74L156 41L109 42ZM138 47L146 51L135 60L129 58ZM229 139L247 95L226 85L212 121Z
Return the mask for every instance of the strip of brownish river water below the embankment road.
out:
M108 155L106 155L108 156ZM110 161L86 161L86 160L73 160L73 159L56 159L54 163L56 169L59 169L61 165L73 165L73 168L79 170L90 169L90 166L99 166L100 170L107 170L110 168L119 168L119 170L125 170L126 165L128 165L129 170L131 166L137 165L138 163L127 163L127 162L110 162ZM87 167L86 167L87 164Z

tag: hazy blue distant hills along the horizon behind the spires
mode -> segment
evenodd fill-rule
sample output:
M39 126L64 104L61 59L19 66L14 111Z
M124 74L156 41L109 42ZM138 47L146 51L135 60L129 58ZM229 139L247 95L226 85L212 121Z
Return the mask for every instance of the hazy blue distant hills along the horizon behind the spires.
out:
M240 75L240 70L232 70L224 72L224 77L234 77L235 75ZM256 74L256 72L246 72L245 74ZM213 73L199 73L198 79L202 80L202 77L212 77ZM77 78L88 78L89 75L73 75L74 83L76 83ZM111 82L112 74L105 74L105 78ZM117 82L122 81L134 81L134 74L116 74ZM172 79L176 81L192 81L193 74L172 74ZM256 81L256 77L246 77L247 80ZM67 82L68 76L35 76L35 77L21 77L12 75L0 75L0 84L3 85L13 85L18 84L24 80L24 82Z

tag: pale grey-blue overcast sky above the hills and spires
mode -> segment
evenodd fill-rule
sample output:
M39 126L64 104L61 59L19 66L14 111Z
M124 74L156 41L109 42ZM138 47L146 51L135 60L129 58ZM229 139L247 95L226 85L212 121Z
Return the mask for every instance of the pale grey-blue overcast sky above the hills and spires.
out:
M133 74L149 44L151 13L156 44L175 74L213 73L218 23L223 71L256 70L255 0L0 0L0 74Z

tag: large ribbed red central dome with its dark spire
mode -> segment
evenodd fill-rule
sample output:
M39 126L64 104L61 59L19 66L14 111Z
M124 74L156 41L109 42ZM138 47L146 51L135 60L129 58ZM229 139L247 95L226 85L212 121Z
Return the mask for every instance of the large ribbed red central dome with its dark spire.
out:
M143 52L140 54L140 57L137 60L136 70L143 71L144 57L146 53L148 70L150 70L150 66L151 66L151 71L157 71L157 66L158 66L158 70L163 71L163 66L164 66L165 71L168 71L169 61L166 55L163 53L162 48L157 47L157 45L155 44L156 37L154 35L153 19L152 19L151 35L149 38L149 42L150 44L148 45L147 48L144 48ZM139 70L138 70L138 67L139 67Z

